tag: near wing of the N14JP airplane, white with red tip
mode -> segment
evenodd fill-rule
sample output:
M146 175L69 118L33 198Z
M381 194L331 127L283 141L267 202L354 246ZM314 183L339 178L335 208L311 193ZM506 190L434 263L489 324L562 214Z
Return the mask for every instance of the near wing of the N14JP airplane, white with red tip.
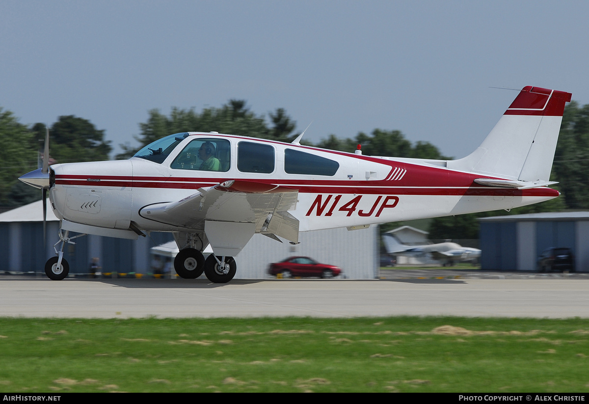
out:
M173 226L205 230L213 249L213 233L222 232L227 238L227 233L239 233L241 229L251 233L249 237L264 233L298 243L299 221L288 213L296 205L298 195L299 191L294 188L230 180L210 188L199 188L196 194L180 201L146 206L140 214Z

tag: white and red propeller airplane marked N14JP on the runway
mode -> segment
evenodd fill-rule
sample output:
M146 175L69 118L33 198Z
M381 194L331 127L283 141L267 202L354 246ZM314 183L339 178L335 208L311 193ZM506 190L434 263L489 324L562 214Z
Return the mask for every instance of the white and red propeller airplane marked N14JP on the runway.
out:
M70 231L137 239L170 231L174 268L194 279L233 279L256 233L299 242L300 231L510 209L559 195L547 186L571 94L524 87L487 138L460 160L343 153L218 133L164 137L129 160L55 164L19 179L49 190L61 249L45 264L67 276ZM48 138L45 155L48 155ZM76 236L77 237L77 236ZM205 247L214 254L204 260Z

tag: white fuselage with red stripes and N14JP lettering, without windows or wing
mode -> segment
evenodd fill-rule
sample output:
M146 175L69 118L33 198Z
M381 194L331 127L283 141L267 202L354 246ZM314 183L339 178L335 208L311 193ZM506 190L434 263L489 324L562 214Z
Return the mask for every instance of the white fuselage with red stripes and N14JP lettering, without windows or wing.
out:
M230 143L226 171L173 168L184 145L198 137L222 138ZM269 145L274 151L271 172L240 170L240 142ZM335 161L333 175L292 174L285 170L286 150L297 150ZM52 165L55 183L50 189L52 207L59 218L107 229L202 231L186 229L141 215L145 206L174 202L227 180L248 180L298 190L299 230L362 227L389 221L447 216L537 203L558 196L550 188L518 190L479 186L481 174L449 170L445 161L368 157L266 140L191 134L161 163L131 158ZM193 164L194 165L194 164ZM268 170L266 170L268 171Z

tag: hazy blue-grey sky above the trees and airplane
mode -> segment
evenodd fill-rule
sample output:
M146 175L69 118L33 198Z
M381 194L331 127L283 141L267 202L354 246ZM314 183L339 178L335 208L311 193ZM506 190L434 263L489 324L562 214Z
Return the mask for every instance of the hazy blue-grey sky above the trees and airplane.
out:
M237 98L313 121L312 141L401 130L463 157L517 94L491 87L589 103L587 16L587 1L1 0L0 107L77 115L118 149L152 108Z

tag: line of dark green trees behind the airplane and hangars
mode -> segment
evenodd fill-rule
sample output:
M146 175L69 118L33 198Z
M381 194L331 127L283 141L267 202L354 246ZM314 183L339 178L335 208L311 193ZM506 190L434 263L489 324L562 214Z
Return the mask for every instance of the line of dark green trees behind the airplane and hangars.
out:
M219 108L204 108L198 112L172 108L169 115L160 110L148 111L147 121L139 124L140 134L135 137L137 145L122 144L117 159L129 158L144 145L173 133L188 131L217 131L292 142L297 133L294 121L283 108L270 112L268 117L250 110L243 100L230 100ZM45 137L45 124L27 127L18 122L11 111L0 107L0 141L4 144L5 158L0 170L0 206L17 207L38 200L41 193L17 180L19 175L38 167L38 151ZM64 115L49 127L51 135L51 158L57 163L108 160L112 151L110 141L105 140L105 131L98 130L91 121L74 115ZM371 133L358 133L353 138L339 138L330 134L316 144L303 139L302 144L330 150L352 153L358 144L365 155L389 157L412 157L448 160L439 149L429 143L418 141L412 144L399 130L376 128ZM562 196L541 204L505 211L493 211L460 216L441 217L432 220L432 239L476 239L478 217L503 214L560 211L566 208L589 208L589 104L581 107L573 101L565 107L552 165L552 181L560 181L554 188ZM401 223L381 226L386 231Z

